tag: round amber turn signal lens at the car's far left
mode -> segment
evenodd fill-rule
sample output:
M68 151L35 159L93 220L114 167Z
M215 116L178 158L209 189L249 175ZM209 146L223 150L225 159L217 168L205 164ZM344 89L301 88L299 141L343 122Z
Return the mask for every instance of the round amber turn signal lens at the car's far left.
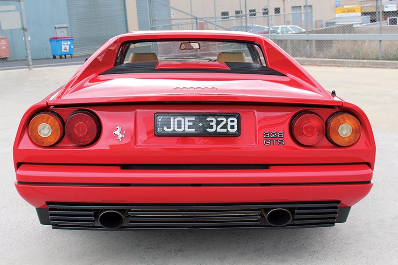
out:
M40 112L29 122L29 137L40 146L56 144L61 140L63 132L61 119L52 112Z

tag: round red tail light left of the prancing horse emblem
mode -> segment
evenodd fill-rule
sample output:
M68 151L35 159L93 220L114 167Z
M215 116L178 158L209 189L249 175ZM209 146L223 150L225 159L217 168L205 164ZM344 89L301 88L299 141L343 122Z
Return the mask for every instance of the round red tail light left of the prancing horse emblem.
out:
M100 135L100 122L88 111L76 111L65 122L65 135L76 145L89 145Z

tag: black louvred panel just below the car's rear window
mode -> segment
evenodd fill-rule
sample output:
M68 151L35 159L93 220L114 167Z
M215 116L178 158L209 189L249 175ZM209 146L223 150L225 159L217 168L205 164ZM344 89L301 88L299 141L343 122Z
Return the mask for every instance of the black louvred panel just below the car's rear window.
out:
M272 68L256 63L225 62L228 69L198 69L198 68L171 68L156 69L158 62L126 63L109 68L100 75L113 74L140 74L140 73L218 73L218 74L253 74L253 75L272 75L283 76L285 74Z

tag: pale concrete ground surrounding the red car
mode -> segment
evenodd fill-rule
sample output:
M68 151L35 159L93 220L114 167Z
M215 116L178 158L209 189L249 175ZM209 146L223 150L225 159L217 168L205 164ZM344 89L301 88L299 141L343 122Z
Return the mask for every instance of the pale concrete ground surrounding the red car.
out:
M52 230L13 186L12 144L24 111L78 66L0 71L1 264L398 264L398 75L394 69L306 69L361 106L373 125L374 187L331 228L259 231Z

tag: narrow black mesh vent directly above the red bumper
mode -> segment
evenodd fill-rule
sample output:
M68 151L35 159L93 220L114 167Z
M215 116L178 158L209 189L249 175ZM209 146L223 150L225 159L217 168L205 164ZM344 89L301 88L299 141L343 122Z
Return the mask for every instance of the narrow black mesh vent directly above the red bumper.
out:
M124 164L122 170L266 170L263 164Z

